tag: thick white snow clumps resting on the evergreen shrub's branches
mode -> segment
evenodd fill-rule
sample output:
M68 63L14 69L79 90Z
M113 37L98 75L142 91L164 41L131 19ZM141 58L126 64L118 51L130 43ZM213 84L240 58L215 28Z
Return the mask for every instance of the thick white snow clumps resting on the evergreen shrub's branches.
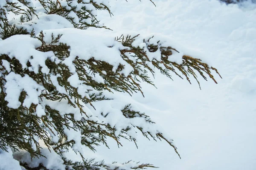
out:
M66 1L61 1L61 6L64 8L71 8L71 6L78 6L78 8L90 8L91 12L95 12L94 7L91 4L78 4L75 0L67 4ZM96 4L109 6L105 0L97 0ZM46 95L52 95L53 92L48 91L44 88L44 83L39 83L35 79L31 78L28 74L20 75L15 72L16 68L6 59L2 60L1 66L1 76L6 80L4 82L3 91L6 94L5 101L8 102L7 106L12 109L27 108L26 114L29 113L29 109L35 106L35 112L32 113L39 118L39 126L44 127L47 131L46 135L49 136L52 142L58 143L62 142L73 142L70 150L75 151L81 155L84 154L83 144L81 139L81 130L74 127L72 121L69 121L67 125L63 125L63 133L67 136L66 141L64 141L61 136L58 135L56 129L58 128L55 123L44 122L43 117L47 116L46 108L49 107L59 113L61 118L72 114L75 121L92 121L99 123L96 128L106 131L108 134L112 133L110 129L114 129L113 136L121 136L126 139L131 139L136 142L137 134L145 133L149 134L153 138L156 138L156 134L161 133L157 130L157 125L152 124L151 120L145 115L139 115L135 113L134 117L130 118L124 116L122 109L128 104L128 101L120 100L116 97L111 97L111 100L102 100L91 103L86 103L82 101L82 98L90 99L92 94L98 94L99 91L86 85L85 80L81 80L81 75L77 73L77 68L73 64L75 60L81 59L87 61L93 57L93 59L101 62L107 62L112 65L112 71L116 72L119 65L123 66L123 69L119 71L119 74L128 77L134 68L128 63L124 58L122 58L121 50L129 50L130 47L124 46L122 42L116 41L113 37L114 34L105 34L96 30L96 28L90 28L90 30L80 30L74 28L74 24L80 24L80 19L77 16L76 11L71 11L68 17L61 17L56 14L46 14L47 8L43 10L40 8L40 3L34 3L33 6L39 9L37 12L38 16L32 16L31 20L22 22L19 19L10 20L10 24L16 24L17 28L25 28L26 31L32 32L30 35L13 35L2 41L0 41L0 54L8 56L11 60L17 60L20 63L20 67L26 70L28 73L42 74L45 78L44 83L53 85L58 93L65 95L66 97L58 100L51 100L46 97ZM30 4L32 7L32 3ZM86 20L92 21L93 18L88 17ZM90 24L92 24L90 22ZM58 37L58 41L54 41L53 37ZM148 56L150 61L156 59L161 59L161 44L158 42L158 38L152 38L150 44L159 45L159 48L155 52L148 51L147 43L144 39L149 37L138 36L134 46L141 46L145 54ZM44 52L42 50L43 45L67 45L69 56L60 59L59 55L53 51ZM15 48L13 48L15 47ZM128 55L129 59L136 62L136 59ZM182 56L177 56L182 57ZM53 62L55 65L64 64L70 71L70 76L67 78L67 82L73 88L77 89L77 93L81 96L80 99L75 99L71 96L67 88L64 88L60 84L59 79L62 78L61 74L55 74L47 66L47 62ZM28 64L29 63L29 64ZM95 62L95 64L97 64ZM149 63L148 63L149 65ZM84 65L86 70L89 70L86 65ZM151 67L154 68L154 67ZM141 71L142 74L145 74ZM107 75L107 72L102 70L103 75ZM90 75L90 74L89 74ZM145 74L146 75L146 74ZM91 74L91 79L97 83L105 85L106 80L102 78L99 73ZM111 91L114 91L111 89ZM109 91L101 91L102 96L111 96ZM24 100L21 101L20 97L25 96ZM73 103L73 106L70 105ZM133 106L131 106L133 107ZM47 119L51 120L50 116ZM108 125L109 127L106 127ZM138 129L140 128L140 129ZM127 129L127 133L124 133L124 129ZM34 136L34 138L36 138ZM97 139L97 137L93 137ZM30 141L33 150L37 150L35 147L35 142L43 140L37 138L35 141ZM26 139L29 141L29 139ZM87 141L91 142L90 138ZM118 143L119 144L119 143ZM30 153L26 150L20 150L14 153L14 158L20 162L26 162L29 167L38 167L42 164L49 170L60 169L64 170L63 160L54 149L54 147L44 146L41 142L40 152L44 157L30 158ZM129 169L130 167L136 167L139 163L128 162L127 164L109 164L109 167L124 167ZM105 168L102 168L105 170Z

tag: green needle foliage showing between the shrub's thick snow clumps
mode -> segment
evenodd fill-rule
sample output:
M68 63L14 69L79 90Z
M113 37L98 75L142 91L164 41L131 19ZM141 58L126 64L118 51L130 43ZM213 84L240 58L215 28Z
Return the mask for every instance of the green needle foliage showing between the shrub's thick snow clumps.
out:
M69 20L75 28L86 29L88 27L99 27L105 28L105 26L97 26L99 21L92 14L91 10L88 10L86 6L82 6L80 10L76 10L77 6L73 6L71 0L67 0L67 5L60 5L60 2L54 0L39 0L41 5L45 9L46 14L58 14L62 17L65 17ZM19 5L23 5L26 9L20 8ZM87 4L83 1L78 1L78 4ZM104 4L97 4L90 1L90 4L97 10L107 10L109 14L111 11ZM21 14L20 23L27 22L32 20L32 16L37 15L35 8L29 6L29 3L23 0L18 0L18 3L11 3L6 1L6 8L9 9L8 12L12 12L14 14ZM67 57L70 57L70 46L59 42L61 35L54 37L52 34L51 42L46 42L44 40L44 34L41 32L39 36L35 36L34 31L28 31L23 28L16 27L16 25L10 25L8 19L6 18L6 11L0 9L2 11L2 17L0 17L1 21L3 21L3 25L1 25L2 31L0 32L1 38L4 40L12 35L16 34L30 34L31 37L38 39L41 41L41 46L36 48L38 51L47 52L53 51L55 56L58 57L60 61L63 61ZM76 15L81 19L79 22L75 22L75 18L70 17L68 14L73 11ZM83 19L90 19L91 23L85 22ZM116 71L113 71L113 65L110 65L108 62L96 60L91 57L88 60L80 59L76 57L73 60L73 65L76 68L76 73L79 76L79 80L83 82L84 85L90 86L95 91L88 89L87 94L90 97L84 96L82 97L78 89L70 85L68 78L73 75L69 70L68 66L64 64L64 62L56 63L51 59L47 59L45 64L49 68L49 74L45 74L42 72L42 68L39 69L38 73L33 71L29 71L27 68L23 68L20 62L11 58L6 54L0 55L0 71L2 76L0 77L0 148L3 150L7 149L7 146L14 148L15 150L26 150L28 151L32 157L40 157L44 156L41 153L41 145L38 143L36 137L41 139L47 147L52 147L53 150L62 156L66 149L73 147L75 144L74 140L68 140L67 134L64 133L64 127L67 129L73 130L81 130L81 143L90 148L93 151L96 151L96 146L99 144L104 144L108 147L108 143L106 141L107 138L114 139L118 145L122 146L120 143L120 139L125 138L133 141L136 144L136 139L132 136L128 135L128 130L131 127L127 127L121 130L119 136L115 135L116 128L111 127L109 124L105 124L102 122L95 122L90 119L81 119L76 120L74 118L74 114L64 114L61 115L58 111L51 108L49 105L45 108L46 115L38 117L36 112L37 105L30 105L30 107L24 107L22 105L24 99L26 98L26 92L23 91L20 94L19 101L21 105L17 109L9 108L8 102L6 102L6 92L4 90L4 85L6 82L6 75L9 72L3 66L2 60L6 60L10 63L11 71L15 74L19 74L21 77L28 75L35 82L41 84L46 89L45 93L42 93L39 97L43 99L47 99L50 101L62 101L67 100L68 105L73 108L79 108L80 113L85 117L89 117L87 113L83 110L84 104L90 104L92 107L93 102L103 101L103 100L111 100L110 98L103 95L102 91L119 91L125 92L130 95L133 93L140 92L143 95L143 91L140 86L140 82L144 81L151 85L154 85L151 81L148 74L154 75L154 70L148 66L148 62L159 70L162 74L166 75L166 77L172 78L171 74L176 74L180 78L182 75L186 77L186 79L190 82L189 75L192 75L197 81L196 74L199 73L201 77L207 79L205 74L209 75L210 79L214 80L214 77L211 71L218 71L209 67L206 63L201 62L200 59L195 59L189 56L183 56L183 63L181 65L171 62L168 60L168 57L172 55L172 50L175 50L172 47L164 47L161 45L160 41L157 45L151 44L149 42L150 39L144 40L147 45L146 48L150 52L155 52L157 49L161 51L161 60L158 61L153 59L152 61L148 58L143 48L133 46L132 43L137 38L127 36L116 37L116 41L122 43L123 46L127 47L125 49L120 49L121 57L134 68L128 76L122 74L122 70L124 69L124 65L119 64ZM134 57L134 60L131 60L129 56ZM27 62L27 66L31 65L30 62ZM104 72L103 72L104 71ZM65 93L61 93L57 90L55 85L52 83L52 79L50 75L60 74L61 77L58 77L58 84L64 87ZM96 82L93 79L94 74L99 74L102 79L104 79L105 83ZM181 75L180 75L181 74ZM217 83L217 82L216 82ZM198 82L199 84L199 82ZM144 95L143 95L144 96ZM145 113L141 113L139 111L133 111L130 104L127 104L122 110L123 116L127 119L133 119L134 117L140 117L145 119L145 122L154 124L154 122L147 116ZM102 116L108 116L107 114ZM150 139L163 139L172 146L176 153L177 148L170 142L164 134L156 133L151 134L150 132L145 132L143 127L135 127L141 131L143 136ZM57 133L57 134L55 134ZM58 135L58 142L53 142L51 135ZM128 136L128 137L127 137ZM156 136L156 137L154 137ZM88 140L89 139L89 140ZM33 145L36 146L36 149L33 149ZM137 144L136 144L137 146ZM7 150L6 150L7 151ZM73 162L67 160L63 157L64 164L67 165L67 170L71 170L72 168L75 170L99 170L100 167L104 167L107 170L121 170L119 167L110 168L108 164L105 164L104 161L98 162L93 159L86 159L80 153L83 161L81 162ZM179 155L179 154L178 154ZM179 155L180 156L180 155ZM124 163L128 164L130 161ZM26 162L20 162L21 165L26 167L28 170L37 170L37 169L46 169L42 164L37 168L29 167ZM114 163L113 163L114 164ZM131 167L131 169L145 169L146 167L154 167L151 164L139 164L136 167Z

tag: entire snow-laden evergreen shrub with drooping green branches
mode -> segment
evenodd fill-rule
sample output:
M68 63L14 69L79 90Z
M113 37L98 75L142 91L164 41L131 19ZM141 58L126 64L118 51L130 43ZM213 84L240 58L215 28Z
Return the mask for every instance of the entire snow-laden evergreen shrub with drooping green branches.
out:
M197 79L196 73L215 81L210 71L218 71L157 37L114 38L88 31L106 28L96 10L111 14L107 0L0 0L0 157L13 153L23 169L154 167L133 161L108 164L83 156L82 146L108 147L107 138L118 145L122 138L136 144L138 133L163 139L178 153L145 113L129 103L120 105L108 94L143 95L140 82L153 85L148 74L155 71L188 81L189 75ZM64 153L69 150L82 161L67 159ZM21 169L12 161L11 168Z

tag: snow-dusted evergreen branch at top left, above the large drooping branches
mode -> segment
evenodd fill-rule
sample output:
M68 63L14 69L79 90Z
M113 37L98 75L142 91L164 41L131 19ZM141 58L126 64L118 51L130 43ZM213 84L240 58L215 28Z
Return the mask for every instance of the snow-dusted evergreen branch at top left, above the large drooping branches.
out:
M7 2L11 3L11 0ZM13 8L6 8L6 0L0 1L0 17L2 19L7 19L8 14L11 16L8 19L9 24L16 26L16 28L23 28L26 31L35 31L35 34L38 34L42 30L46 29L60 29L60 28L73 28L74 25L76 28L87 28L87 26L95 27L105 27L99 23L96 19L97 9L106 9L108 8L108 0L58 0L57 6L56 1L33 1L26 0L21 1L25 9L34 9L34 11L29 14L30 17L25 15L25 12L14 17L14 14L10 12ZM54 14L54 10L51 11L50 8L62 8L68 11L68 14ZM22 17L21 17L22 16ZM14 17L14 18L13 18ZM20 18L21 17L21 18ZM3 28L3 22L0 20L0 31ZM0 35L0 38L3 38L3 35Z

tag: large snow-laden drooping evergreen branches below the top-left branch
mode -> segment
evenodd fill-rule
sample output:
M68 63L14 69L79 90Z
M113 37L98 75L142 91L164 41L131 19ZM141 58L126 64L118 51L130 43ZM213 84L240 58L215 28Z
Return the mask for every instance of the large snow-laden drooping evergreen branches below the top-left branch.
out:
M7 118L11 113L14 118L7 124L19 127L3 132L1 138L12 138L0 147L18 146L32 156L43 156L40 139L56 153L69 147L82 154L82 145L92 150L99 143L108 147L106 137L121 146L121 138L136 144L140 131L147 138L166 140L177 152L148 116L133 111L131 105L111 107L114 102L104 94L143 95L140 82L153 85L148 73L154 75L157 70L169 78L171 73L181 77L180 71L188 81L189 74L196 78L195 71L215 81L210 70L217 70L189 56L177 56L182 57L180 64L172 62L169 57L177 50L153 38L121 36L114 40L76 29L59 32L41 31L37 36L15 35L0 41L1 116Z

